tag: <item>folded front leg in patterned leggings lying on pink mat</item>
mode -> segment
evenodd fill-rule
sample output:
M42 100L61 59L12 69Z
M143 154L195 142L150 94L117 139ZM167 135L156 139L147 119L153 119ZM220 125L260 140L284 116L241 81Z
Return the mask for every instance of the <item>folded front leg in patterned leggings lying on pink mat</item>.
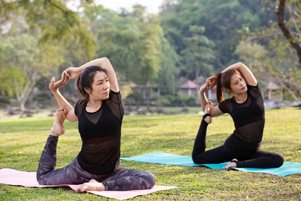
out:
M150 172L120 168L102 183L105 190L141 190L152 188L156 183L156 177Z

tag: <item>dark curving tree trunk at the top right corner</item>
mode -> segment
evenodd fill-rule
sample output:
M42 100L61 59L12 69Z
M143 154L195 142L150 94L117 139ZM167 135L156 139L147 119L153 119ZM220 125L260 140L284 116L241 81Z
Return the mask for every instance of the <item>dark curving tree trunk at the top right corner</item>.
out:
M287 39L287 41L291 44L291 46L296 50L297 56L299 58L299 68L301 69L301 46L299 43L292 37L289 30L285 26L285 23L283 21L283 14L285 9L285 0L279 0L279 9L275 11L275 14L277 16L277 22L278 26L281 29L283 35Z

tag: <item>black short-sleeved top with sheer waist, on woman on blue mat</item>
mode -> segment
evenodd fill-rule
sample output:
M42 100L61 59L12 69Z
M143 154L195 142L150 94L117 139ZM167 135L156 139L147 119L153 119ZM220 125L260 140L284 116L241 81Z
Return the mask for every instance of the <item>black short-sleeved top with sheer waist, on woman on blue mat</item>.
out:
M238 104L234 97L224 100L218 107L223 113L229 113L235 125L233 134L249 143L258 144L262 140L264 128L264 105L260 88L247 85L247 99Z

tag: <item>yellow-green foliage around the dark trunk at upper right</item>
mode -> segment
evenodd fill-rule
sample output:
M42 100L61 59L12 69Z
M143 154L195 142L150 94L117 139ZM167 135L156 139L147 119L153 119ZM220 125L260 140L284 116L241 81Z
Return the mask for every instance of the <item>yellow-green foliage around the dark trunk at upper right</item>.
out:
M263 8L269 8L271 5L275 6L275 3L268 1ZM297 34L301 30L301 18L296 14L301 10L292 1L287 4L287 11L290 17L286 17L286 26L301 44L301 35ZM235 54L249 66L253 66L255 73L274 79L294 100L301 103L298 95L301 88L300 63L295 50L280 31L277 22L269 21L268 27L257 28L254 32L239 30L238 33L242 36L242 41L236 47Z

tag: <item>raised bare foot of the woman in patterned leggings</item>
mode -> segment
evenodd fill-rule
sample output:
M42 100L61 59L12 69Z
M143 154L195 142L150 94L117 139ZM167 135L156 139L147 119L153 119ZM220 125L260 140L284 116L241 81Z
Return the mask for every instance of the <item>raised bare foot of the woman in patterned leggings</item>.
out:
M60 135L63 135L65 133L63 123L66 119L67 113L68 113L68 111L65 107L61 107L60 109L58 109L56 111L54 123L50 130L50 135L59 137Z

